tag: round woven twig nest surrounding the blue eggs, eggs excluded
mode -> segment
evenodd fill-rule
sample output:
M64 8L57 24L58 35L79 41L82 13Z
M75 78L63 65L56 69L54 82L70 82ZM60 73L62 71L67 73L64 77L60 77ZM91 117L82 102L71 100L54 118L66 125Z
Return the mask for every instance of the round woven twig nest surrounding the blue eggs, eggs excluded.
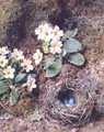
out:
M48 110L53 118L79 127L90 121L97 98L95 81L91 78L58 82L49 88ZM63 99L73 98L72 106L66 106Z

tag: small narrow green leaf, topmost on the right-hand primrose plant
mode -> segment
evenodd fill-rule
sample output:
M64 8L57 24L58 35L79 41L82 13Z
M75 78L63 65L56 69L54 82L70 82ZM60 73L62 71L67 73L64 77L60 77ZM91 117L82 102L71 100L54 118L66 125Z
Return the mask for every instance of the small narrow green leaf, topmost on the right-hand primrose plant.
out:
M67 31L62 37L62 41L74 37L77 33L78 33L78 29L74 29L72 31Z

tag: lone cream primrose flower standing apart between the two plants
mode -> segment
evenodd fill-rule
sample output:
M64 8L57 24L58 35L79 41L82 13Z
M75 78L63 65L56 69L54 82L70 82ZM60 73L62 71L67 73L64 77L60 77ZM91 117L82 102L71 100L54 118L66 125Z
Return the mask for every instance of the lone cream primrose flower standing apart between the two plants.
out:
M41 53L39 50L36 50L36 53L34 53L33 58L35 59L35 64L38 65L43 59L43 53Z

